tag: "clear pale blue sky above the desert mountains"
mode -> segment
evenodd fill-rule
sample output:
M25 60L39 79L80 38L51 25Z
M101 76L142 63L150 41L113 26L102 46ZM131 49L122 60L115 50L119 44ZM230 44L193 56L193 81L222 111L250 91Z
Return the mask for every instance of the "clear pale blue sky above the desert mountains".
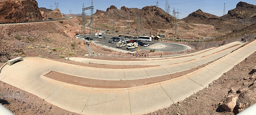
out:
M84 3L85 7L91 6L91 0L36 0L38 2L39 7L45 7L50 9L50 6L55 9L54 3L59 3L59 10L62 13L69 14L69 10L72 10L73 14L80 14L82 11L82 4ZM241 0L240 0L241 1ZM214 14L217 16L222 16L224 3L226 4L226 13L228 10L232 10L236 8L236 5L240 2L237 0L169 0L170 11L172 15L172 11L175 8L176 11L179 9L179 19L182 19L188 16L190 13L201 9L203 12ZM143 8L145 6L155 6L157 0L94 0L94 12L96 9L106 11L111 5L116 6L120 9L122 6L127 8ZM166 0L158 0L159 7L165 10L165 2ZM245 0L242 2L246 2L248 4L256 5L255 0ZM86 11L87 14L91 12Z

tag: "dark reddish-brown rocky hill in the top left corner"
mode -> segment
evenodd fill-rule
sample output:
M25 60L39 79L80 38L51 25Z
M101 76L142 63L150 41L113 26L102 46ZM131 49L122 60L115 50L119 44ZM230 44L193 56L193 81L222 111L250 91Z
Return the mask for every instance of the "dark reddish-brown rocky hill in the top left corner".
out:
M0 22L42 20L35 0L0 1Z

